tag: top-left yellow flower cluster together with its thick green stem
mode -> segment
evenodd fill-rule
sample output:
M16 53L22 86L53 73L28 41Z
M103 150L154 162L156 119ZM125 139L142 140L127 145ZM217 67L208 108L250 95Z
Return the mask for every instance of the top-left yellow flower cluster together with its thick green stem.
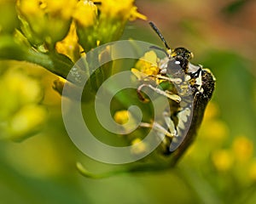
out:
M4 16L0 20L0 59L32 62L60 77L67 77L84 52L118 40L128 20L146 19L137 12L134 0L17 0L0 4Z

